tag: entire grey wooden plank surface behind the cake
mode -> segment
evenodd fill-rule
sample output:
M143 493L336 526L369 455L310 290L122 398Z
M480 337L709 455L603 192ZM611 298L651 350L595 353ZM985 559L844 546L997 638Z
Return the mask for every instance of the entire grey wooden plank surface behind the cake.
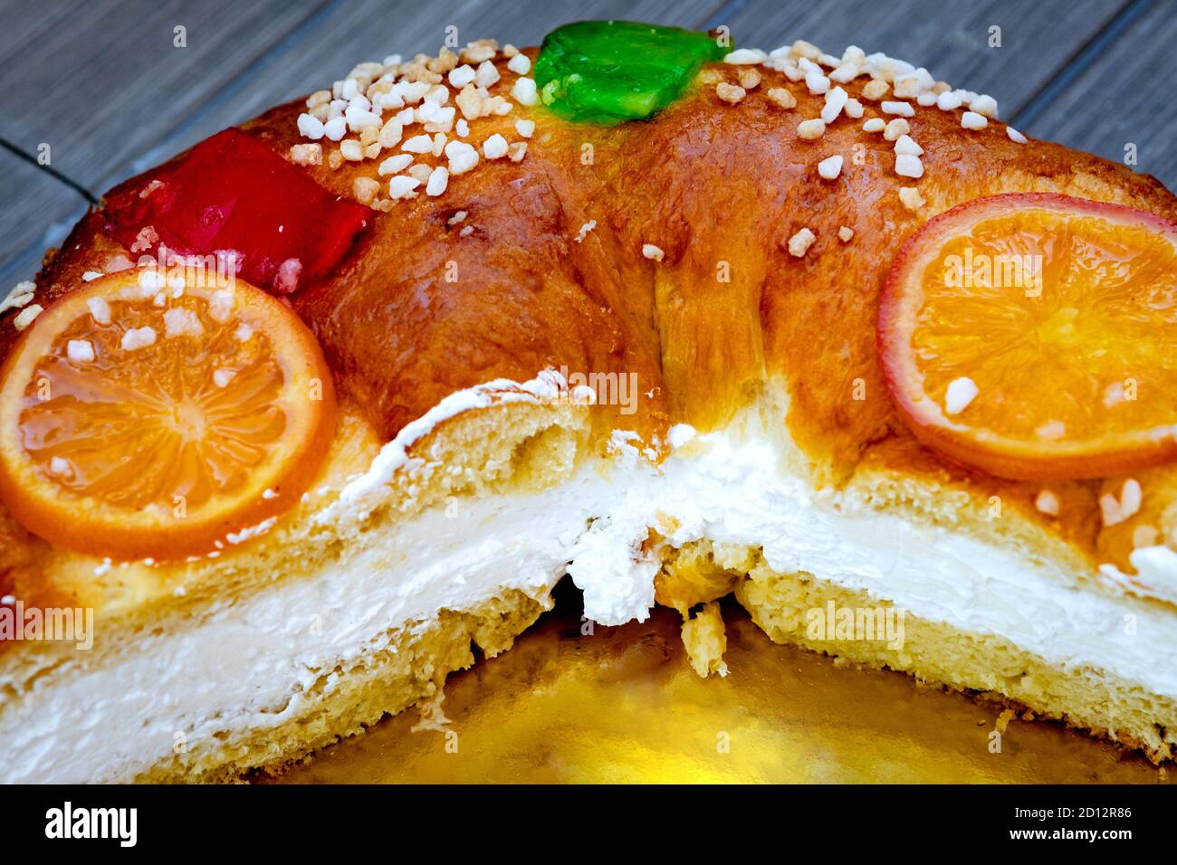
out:
M450 25L523 46L593 18L883 51L1031 135L1115 160L1133 144L1136 169L1177 187L1175 0L0 0L0 294L118 181L355 62L435 53Z

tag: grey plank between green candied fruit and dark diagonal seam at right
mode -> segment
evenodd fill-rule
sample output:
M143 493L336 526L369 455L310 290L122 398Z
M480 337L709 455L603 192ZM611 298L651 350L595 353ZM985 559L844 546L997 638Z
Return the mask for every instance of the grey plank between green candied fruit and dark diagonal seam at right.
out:
M831 54L882 51L953 87L989 93L1012 117L1071 53L1115 18L1123 0L879 0L737 5L736 42L772 49L806 39ZM1002 46L989 47L1000 27Z

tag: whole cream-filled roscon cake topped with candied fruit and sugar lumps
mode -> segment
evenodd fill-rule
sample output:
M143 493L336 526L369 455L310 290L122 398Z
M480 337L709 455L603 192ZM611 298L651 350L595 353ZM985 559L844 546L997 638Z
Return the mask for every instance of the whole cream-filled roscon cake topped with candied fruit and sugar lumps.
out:
M4 780L278 770L565 575L701 676L733 594L1175 756L1161 182L853 46L581 22L325 84L0 301Z

